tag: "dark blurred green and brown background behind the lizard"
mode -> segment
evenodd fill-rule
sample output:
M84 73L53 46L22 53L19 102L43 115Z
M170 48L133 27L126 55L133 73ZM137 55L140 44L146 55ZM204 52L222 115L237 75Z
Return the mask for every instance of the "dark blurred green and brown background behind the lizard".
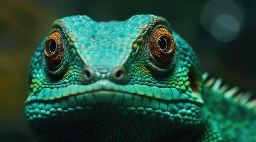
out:
M194 48L203 71L255 95L255 7L255 0L0 0L0 141L34 141L23 114L27 67L57 18L79 14L108 21L135 14L163 16Z

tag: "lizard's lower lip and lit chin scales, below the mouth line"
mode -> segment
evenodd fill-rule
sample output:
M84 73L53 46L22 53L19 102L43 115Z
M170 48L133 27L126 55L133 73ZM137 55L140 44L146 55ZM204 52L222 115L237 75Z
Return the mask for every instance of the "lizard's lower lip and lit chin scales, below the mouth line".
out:
M40 121L41 118L56 117L56 119L52 120L58 120L59 122L66 119L61 120L57 116L76 115L74 118L67 118L76 120L76 117L80 118L79 114L84 114L83 116L81 115L81 119L84 119L97 117L104 113L108 115L109 113L121 113L121 116L124 117L127 117L127 115L124 115L126 113L132 114L134 117L141 115L140 117L143 118L159 116L180 121L181 118L188 120L189 117L186 117L186 115L198 114L195 110L200 110L200 107L203 105L203 102L200 102L200 100L184 99L182 97L179 100L163 100L154 98L154 95L149 97L148 94L130 94L115 90L101 89L73 93L55 99L28 100L25 106L28 121L32 124ZM192 111L186 112L186 109L192 107L194 108Z

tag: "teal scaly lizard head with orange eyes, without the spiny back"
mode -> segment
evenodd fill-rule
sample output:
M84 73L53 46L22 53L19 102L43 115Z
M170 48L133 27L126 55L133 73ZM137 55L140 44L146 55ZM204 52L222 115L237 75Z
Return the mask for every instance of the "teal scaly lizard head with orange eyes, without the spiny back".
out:
M64 17L30 61L25 114L38 135L50 128L45 125L67 131L68 122L86 123L95 133L99 122L113 121L190 129L205 119L201 75L192 48L163 17Z

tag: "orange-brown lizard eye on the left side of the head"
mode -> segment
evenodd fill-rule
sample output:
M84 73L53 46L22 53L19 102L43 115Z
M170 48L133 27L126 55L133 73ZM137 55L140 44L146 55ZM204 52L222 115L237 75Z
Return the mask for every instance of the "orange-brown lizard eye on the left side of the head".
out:
M46 39L44 44L44 55L47 62L52 65L58 65L63 58L63 37L59 32L54 32Z

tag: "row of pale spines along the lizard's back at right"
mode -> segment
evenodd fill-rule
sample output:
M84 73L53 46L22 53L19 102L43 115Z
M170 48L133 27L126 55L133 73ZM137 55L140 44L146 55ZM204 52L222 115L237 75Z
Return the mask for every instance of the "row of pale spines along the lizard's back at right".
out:
M227 84L221 86L221 78L216 79L213 77L207 80L208 76L209 73L205 72L204 74L202 74L202 79L205 85L211 87L213 91L217 91L223 94L225 98L231 98L233 101L239 103L240 105L244 105L256 111L256 99L250 99L252 96L252 92L239 92L239 87L237 86L229 89L229 86Z

